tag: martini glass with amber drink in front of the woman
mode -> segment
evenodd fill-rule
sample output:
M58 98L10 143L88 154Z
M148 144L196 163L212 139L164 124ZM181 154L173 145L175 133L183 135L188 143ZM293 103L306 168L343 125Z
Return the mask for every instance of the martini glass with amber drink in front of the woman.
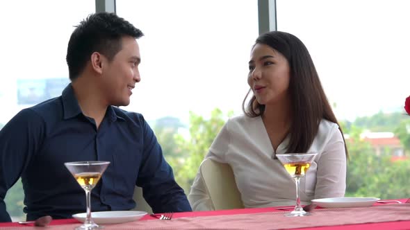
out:
M317 153L288 153L288 154L276 154L276 157L284 165L286 171L295 179L296 184L296 206L292 212L286 213L286 216L304 216L311 215L302 209L300 206L299 196L299 184L300 178L304 177L306 171L311 166L313 159L315 159Z

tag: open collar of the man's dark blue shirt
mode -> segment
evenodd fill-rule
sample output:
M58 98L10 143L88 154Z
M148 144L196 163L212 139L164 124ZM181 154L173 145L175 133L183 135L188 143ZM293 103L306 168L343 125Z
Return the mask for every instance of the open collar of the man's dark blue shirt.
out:
M71 83L69 85L67 85L67 87L65 87L61 97L63 99L64 119L65 120L67 120L69 118L73 118L74 116L77 116L79 114L83 114L83 112L81 111L80 105L79 105L79 101L77 100L77 98L74 94L74 89L72 88ZM115 109L113 108L113 106L109 106L107 108L106 117L111 122L117 121L117 118L119 118L122 121L125 121L124 118L117 115L117 113L115 112Z

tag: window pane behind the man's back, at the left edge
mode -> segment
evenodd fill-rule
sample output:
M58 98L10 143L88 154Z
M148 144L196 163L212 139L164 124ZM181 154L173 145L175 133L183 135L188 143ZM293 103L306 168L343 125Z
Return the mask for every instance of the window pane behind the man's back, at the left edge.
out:
M95 12L95 1L3 1L0 14L0 129L25 107L60 96L69 82L69 36ZM13 220L23 215L20 182L8 191Z

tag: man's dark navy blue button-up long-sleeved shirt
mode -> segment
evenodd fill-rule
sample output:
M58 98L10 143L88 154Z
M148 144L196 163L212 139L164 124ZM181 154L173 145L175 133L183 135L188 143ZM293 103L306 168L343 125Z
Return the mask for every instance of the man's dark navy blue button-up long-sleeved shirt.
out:
M85 192L64 166L69 161L110 161L92 190L92 211L133 209L136 185L155 213L191 211L142 115L110 106L97 129L68 85L0 130L0 222L10 221L3 200L19 177L28 220L85 212Z

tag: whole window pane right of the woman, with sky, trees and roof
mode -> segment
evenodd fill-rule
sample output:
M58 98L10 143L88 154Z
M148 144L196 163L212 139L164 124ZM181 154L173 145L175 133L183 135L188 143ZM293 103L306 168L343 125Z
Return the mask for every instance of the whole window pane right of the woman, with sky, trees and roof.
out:
M341 121L347 196L410 196L410 1L277 0L278 30L302 39Z

